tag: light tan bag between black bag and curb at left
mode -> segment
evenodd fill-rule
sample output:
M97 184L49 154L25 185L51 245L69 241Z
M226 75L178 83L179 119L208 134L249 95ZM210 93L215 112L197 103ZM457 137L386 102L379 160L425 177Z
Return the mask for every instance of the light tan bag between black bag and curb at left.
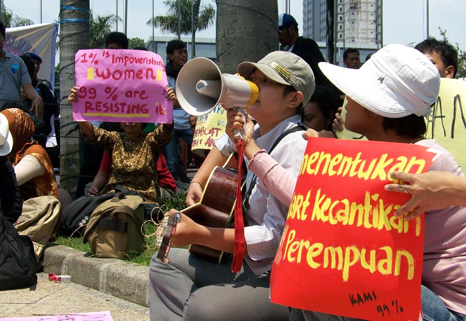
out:
M60 208L60 201L53 196L34 197L23 203L23 212L15 228L19 235L26 235L33 241L37 262L50 237L60 226Z

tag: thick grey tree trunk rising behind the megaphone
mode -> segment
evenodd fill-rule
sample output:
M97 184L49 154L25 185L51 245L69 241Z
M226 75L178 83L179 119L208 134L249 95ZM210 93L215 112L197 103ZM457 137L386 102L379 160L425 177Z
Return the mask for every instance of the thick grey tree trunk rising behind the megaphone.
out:
M216 0L217 64L236 73L242 61L256 62L279 49L278 2Z

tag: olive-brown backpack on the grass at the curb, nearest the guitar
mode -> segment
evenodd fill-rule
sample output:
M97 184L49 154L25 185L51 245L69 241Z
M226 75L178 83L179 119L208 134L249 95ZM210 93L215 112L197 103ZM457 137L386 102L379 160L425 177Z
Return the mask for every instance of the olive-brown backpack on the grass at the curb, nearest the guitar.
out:
M144 251L144 200L137 195L117 193L92 212L84 232L91 253L102 258L126 258Z

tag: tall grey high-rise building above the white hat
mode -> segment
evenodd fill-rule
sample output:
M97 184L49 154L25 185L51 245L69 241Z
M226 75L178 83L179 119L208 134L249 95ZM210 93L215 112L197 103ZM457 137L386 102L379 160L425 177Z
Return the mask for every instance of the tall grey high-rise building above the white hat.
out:
M327 41L327 0L303 0L304 37L321 49ZM382 48L382 0L334 0L335 64L343 64L343 51L356 48L361 61ZM325 55L325 54L324 54Z

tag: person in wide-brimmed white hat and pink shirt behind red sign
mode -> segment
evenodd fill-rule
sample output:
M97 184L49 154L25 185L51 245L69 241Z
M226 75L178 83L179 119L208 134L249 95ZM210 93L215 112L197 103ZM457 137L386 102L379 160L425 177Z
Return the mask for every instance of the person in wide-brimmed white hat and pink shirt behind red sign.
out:
M419 51L388 45L374 53L359 70L320 63L324 74L343 92L348 104L345 127L368 140L409 143L441 151L429 171L448 171L464 180L451 154L433 139L425 139L424 117L432 111L440 87L435 66ZM304 138L318 136L308 130ZM292 194L296 177L280 166L255 168L274 195ZM433 174L431 174L433 175ZM274 187L280 177L282 184ZM280 188L278 188L280 186ZM400 189L397 184L397 188ZM403 186L410 193L410 186ZM286 193L282 191L285 190ZM285 195L286 194L286 195ZM439 201L440 204L442 201ZM438 208L440 206L433 206ZM416 212L419 215L420 212ZM397 215L406 215L401 211ZM466 307L466 208L451 206L425 214L424 261L421 303L424 320L465 320ZM412 219L412 215L405 219ZM440 229L440 230L439 230ZM292 309L291 320L354 320Z

